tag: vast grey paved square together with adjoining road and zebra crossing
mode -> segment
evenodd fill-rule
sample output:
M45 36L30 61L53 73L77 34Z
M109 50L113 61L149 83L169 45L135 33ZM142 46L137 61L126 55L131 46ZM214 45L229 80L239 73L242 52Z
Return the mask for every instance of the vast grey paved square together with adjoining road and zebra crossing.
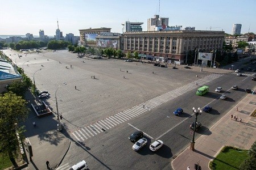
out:
M12 52L6 53L15 58ZM66 50L22 56L16 62L22 67L29 60L23 67L31 79L35 71L42 68L35 73L35 83L39 90L48 90L51 94L44 100L53 111L56 110L56 89L67 83L57 90L57 99L72 144L59 169L68 169L80 160L86 160L90 169L170 169L171 160L192 139L189 125L195 120L193 107L213 107L212 112L198 117L203 128L196 133L196 138L209 135L206 131L210 126L246 95L246 88L255 86L250 76L208 75L116 59L76 58ZM96 79L90 78L92 75ZM199 82L199 86L208 85L210 92L195 95L198 88L195 82ZM240 87L238 91L230 89L234 84ZM214 91L219 86L223 88L221 93ZM224 92L228 99L219 99ZM166 100L157 103L161 95ZM175 116L172 112L177 107L183 108L184 114ZM94 132L88 130L92 126ZM106 131L101 131L100 126ZM128 139L136 129L142 130L148 140L139 152L132 150L133 143ZM155 139L162 140L164 146L154 153L148 147Z

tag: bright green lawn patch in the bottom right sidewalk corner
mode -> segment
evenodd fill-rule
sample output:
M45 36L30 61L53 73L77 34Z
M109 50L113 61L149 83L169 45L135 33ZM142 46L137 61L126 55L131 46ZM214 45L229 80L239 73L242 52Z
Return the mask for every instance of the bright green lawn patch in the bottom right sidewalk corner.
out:
M220 154L210 163L211 169L239 169L240 164L248 157L247 150L224 147Z

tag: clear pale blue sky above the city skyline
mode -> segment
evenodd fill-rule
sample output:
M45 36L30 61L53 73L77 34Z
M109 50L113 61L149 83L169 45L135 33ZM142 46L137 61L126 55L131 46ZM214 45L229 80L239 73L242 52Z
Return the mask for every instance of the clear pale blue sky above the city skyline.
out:
M59 28L79 35L79 29L112 28L122 31L122 23L143 22L159 14L159 0L0 0L0 35L55 35ZM256 33L255 0L160 0L160 17L169 25L196 27L197 30L222 30L231 33L232 25L242 24L241 33ZM218 28L217 28L218 27Z

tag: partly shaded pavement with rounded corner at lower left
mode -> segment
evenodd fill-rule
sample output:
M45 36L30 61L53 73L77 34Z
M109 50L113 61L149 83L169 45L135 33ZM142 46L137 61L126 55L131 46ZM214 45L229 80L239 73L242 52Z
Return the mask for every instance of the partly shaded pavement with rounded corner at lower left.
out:
M32 95L28 94L26 99L35 104ZM46 160L49 161L49 169L56 169L67 153L71 141L65 129L57 131L58 122L53 114L38 118L31 111L28 120L24 123L27 129L25 137L30 140L33 156L30 160L27 148L25 147L27 167L23 169L47 169ZM34 121L36 122L36 127L32 125Z

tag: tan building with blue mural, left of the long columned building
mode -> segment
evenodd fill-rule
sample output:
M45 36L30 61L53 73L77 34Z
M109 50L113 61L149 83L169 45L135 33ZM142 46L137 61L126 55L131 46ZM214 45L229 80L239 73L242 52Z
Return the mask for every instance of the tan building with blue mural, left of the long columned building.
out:
M79 29L80 32L80 44L85 46L96 47L96 37L102 32L110 32L111 28L89 28Z

